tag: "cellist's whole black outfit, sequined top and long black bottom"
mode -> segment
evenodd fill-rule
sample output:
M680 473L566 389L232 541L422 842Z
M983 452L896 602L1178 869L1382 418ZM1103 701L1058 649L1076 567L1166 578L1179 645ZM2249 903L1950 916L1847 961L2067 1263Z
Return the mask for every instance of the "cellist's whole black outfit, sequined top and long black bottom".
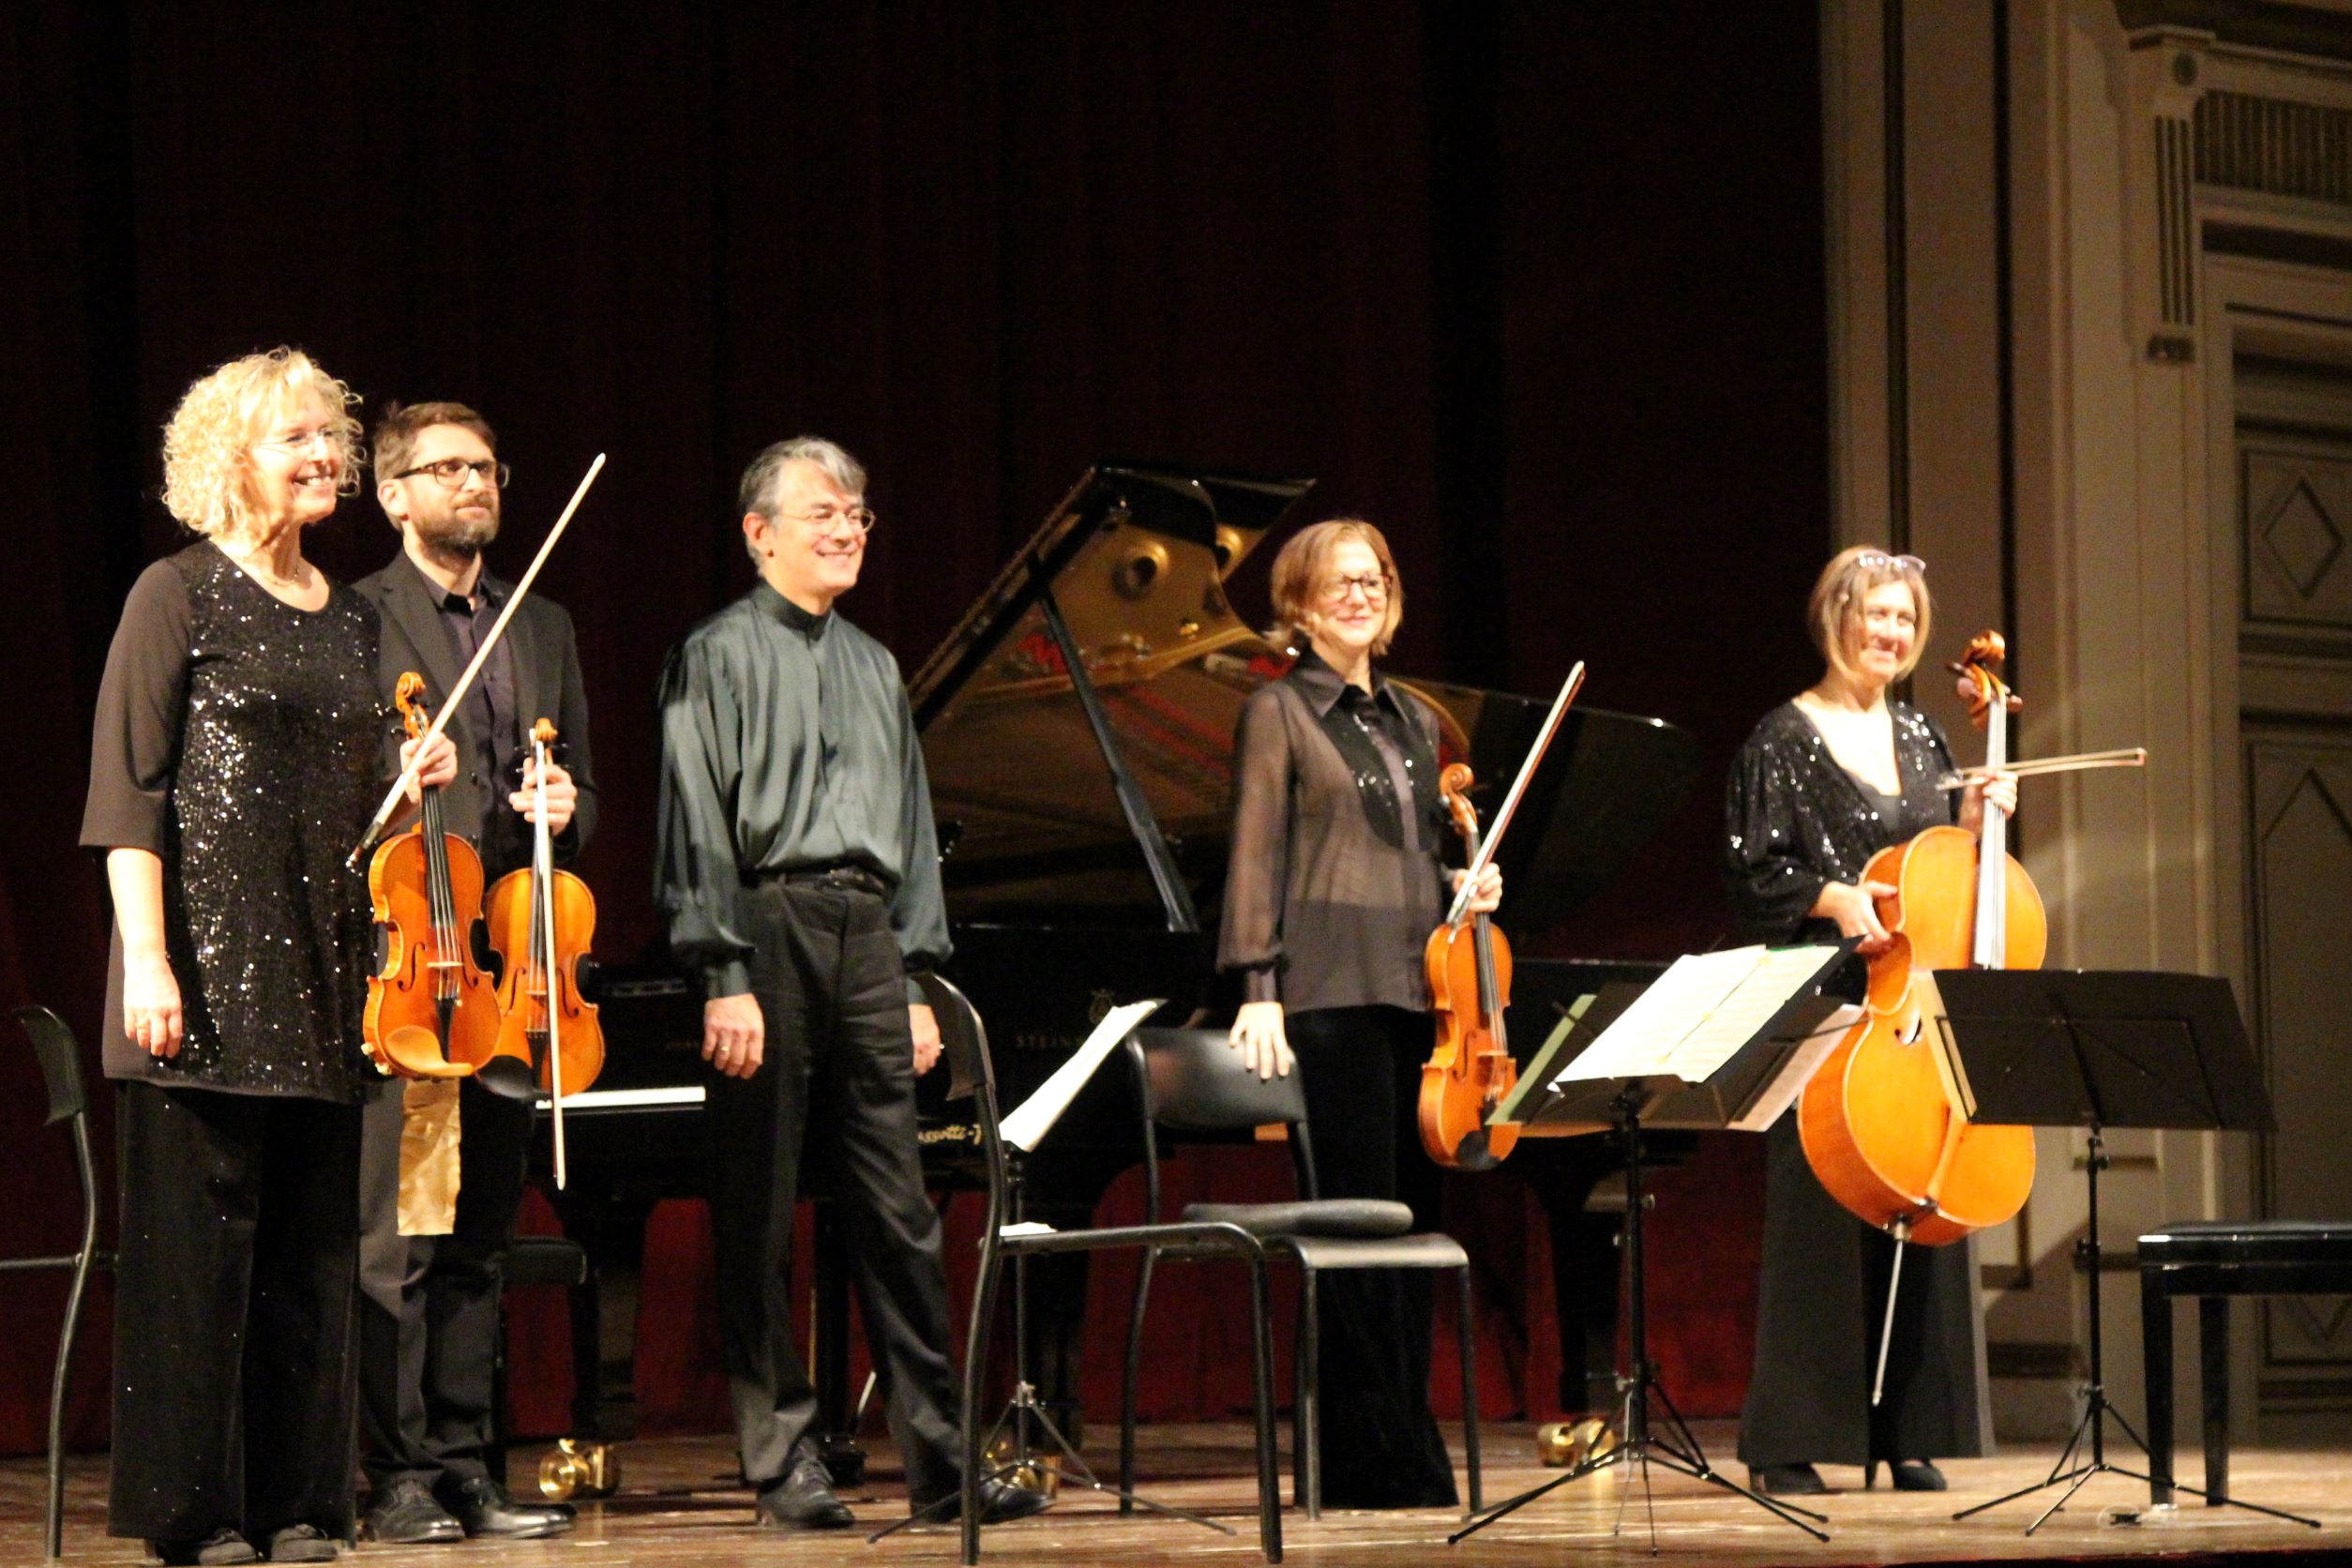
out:
M1903 792L1879 795L1830 755L1795 703L1773 708L1731 762L1724 879L1750 940L1832 938L1811 919L1828 882L1860 882L1879 849L1950 823L1936 788L1952 750L1933 719L1891 703ZM1915 1246L1896 1300L1886 1399L1870 1378L1893 1241L1846 1213L1804 1161L1797 1119L1766 1135L1757 1359L1740 1413L1748 1465L1969 1458L1992 1450L1976 1246Z

